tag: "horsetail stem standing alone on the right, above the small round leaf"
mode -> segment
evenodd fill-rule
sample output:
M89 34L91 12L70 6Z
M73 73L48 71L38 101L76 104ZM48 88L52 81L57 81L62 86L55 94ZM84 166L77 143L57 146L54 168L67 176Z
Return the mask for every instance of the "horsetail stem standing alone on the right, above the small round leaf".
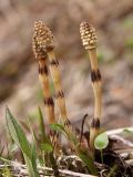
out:
M94 152L94 138L100 131L102 107L101 73L96 58L96 35L94 28L86 22L81 23L80 33L83 46L88 50L91 62L91 81L94 93L94 118L90 127L90 147Z

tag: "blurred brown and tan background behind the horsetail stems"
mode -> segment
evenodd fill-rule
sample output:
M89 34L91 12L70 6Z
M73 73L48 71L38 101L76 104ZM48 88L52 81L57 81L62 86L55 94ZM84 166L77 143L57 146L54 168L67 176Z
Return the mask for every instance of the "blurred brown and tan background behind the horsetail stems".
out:
M62 87L73 123L93 117L90 62L82 48L81 21L98 32L103 82L104 127L133 124L133 0L0 0L0 122L9 106L17 118L37 117L43 108L31 39L34 21L53 32ZM51 81L51 90L53 85ZM2 131L2 128L0 129Z

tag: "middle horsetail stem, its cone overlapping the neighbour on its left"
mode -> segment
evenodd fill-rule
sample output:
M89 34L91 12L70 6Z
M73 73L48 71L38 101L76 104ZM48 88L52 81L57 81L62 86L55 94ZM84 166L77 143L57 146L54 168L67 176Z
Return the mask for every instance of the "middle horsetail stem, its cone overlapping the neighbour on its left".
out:
M55 59L54 55L54 44L53 44L53 35L49 28L44 25L42 22L39 23L39 30L38 30L38 44L40 45L40 49L47 52L49 62L50 62L50 71L54 83L55 88L55 100L58 103L58 106L60 108L60 114L63 123L70 126L70 121L66 115L66 107L65 107L65 100L64 94L61 86L61 76L60 76L60 70L59 70L59 62Z

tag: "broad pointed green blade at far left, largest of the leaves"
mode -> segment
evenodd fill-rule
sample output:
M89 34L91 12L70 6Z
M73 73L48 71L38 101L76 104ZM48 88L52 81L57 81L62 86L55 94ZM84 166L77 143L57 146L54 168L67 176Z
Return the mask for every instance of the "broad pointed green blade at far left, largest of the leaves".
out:
M35 149L32 147L25 135L22 131L21 126L18 124L16 118L12 116L9 108L6 108L6 119L9 133L11 134L12 139L14 143L21 148L24 160L29 170L30 177L39 177L37 170L37 158L35 158Z

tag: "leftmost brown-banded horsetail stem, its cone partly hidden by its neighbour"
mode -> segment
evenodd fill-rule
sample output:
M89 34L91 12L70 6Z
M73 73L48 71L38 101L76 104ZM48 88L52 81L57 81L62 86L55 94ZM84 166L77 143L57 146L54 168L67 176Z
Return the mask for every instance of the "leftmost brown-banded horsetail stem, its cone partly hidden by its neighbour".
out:
M50 84L49 84L49 71L48 71L48 66L47 66L47 58L48 56L47 56L45 51L40 49L40 46L38 44L38 39L37 39L38 23L35 23L34 31L35 31L35 33L33 34L33 38L32 38L32 48L33 48L35 59L39 62L39 79L40 79L40 82L41 82L42 88L43 88L44 108L45 108L45 113L48 115L49 124L53 124L53 123L55 123L54 102L51 96ZM50 137L51 137L51 140L55 144L57 138L58 138L55 135L55 132L50 131Z

